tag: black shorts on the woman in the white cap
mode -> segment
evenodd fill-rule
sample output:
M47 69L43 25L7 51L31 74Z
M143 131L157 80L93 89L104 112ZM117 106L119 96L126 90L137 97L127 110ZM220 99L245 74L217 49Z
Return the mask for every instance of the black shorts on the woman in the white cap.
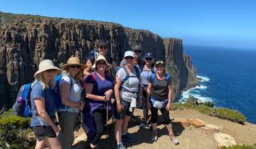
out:
M121 104L124 109L119 114L119 113L117 113L117 101L114 101L114 118L115 119L124 119L125 115L132 116L132 111L129 111L129 106L131 105L131 103L121 99Z

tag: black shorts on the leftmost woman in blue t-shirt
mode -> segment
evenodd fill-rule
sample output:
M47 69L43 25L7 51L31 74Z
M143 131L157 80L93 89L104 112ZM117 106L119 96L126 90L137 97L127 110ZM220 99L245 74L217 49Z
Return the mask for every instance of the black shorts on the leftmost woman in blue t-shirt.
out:
M56 138L56 133L51 126L34 126L33 132L39 141L47 137Z

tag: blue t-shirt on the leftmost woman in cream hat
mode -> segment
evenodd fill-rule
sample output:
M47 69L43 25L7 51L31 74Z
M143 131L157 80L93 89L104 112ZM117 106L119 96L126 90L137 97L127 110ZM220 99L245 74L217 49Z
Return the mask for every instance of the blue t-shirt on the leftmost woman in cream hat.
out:
M31 90L31 109L33 111L32 118L31 118L31 127L33 126L48 126L48 123L43 121L43 119L38 116L36 105L35 105L35 99L36 98L44 98L46 103L46 112L50 116L52 120L54 120L55 117L55 99L52 89L43 89L43 86L40 82L36 82ZM40 100L40 99L39 99Z

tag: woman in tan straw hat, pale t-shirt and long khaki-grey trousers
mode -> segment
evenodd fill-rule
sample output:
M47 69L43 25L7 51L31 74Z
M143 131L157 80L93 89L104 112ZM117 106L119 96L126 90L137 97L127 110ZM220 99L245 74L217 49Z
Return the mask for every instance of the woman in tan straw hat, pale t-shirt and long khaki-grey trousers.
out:
M63 106L58 109L60 133L58 140L63 148L71 148L75 140L74 131L79 123L80 110L84 101L81 100L82 87L80 79L85 65L80 64L78 57L70 57L67 64L61 66L63 73L60 79L60 98Z

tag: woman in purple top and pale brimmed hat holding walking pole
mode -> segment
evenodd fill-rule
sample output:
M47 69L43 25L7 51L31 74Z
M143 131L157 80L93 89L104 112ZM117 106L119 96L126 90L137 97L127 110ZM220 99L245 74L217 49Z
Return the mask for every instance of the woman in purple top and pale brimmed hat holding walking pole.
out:
M114 106L112 105L110 98L113 93L114 87L110 76L107 74L107 70L111 69L111 65L107 62L103 55L99 55L92 68L95 72L92 72L85 79L85 96L87 98L84 114L91 116L91 120L85 118L85 125L89 121L93 121L95 133L87 138L90 140L90 148L96 148L97 143L102 136L104 125L107 124L108 119L114 113ZM90 126L89 126L90 127Z

